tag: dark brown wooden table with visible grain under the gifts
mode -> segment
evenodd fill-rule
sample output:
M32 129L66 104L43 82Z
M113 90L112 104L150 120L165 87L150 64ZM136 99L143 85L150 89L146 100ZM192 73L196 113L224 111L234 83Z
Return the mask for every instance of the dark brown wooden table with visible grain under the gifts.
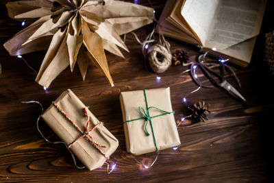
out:
M1 2L1 45L22 29L20 23L8 18L4 3ZM164 5L164 1L138 3L155 8L156 16L160 16ZM273 29L273 25L267 23L271 13L268 8L251 65L237 71L242 84L237 90L245 96L248 106L242 106L220 88L203 88L190 95L190 104L200 100L210 103L209 120L194 123L186 119L178 127L181 147L160 151L151 169L142 167L126 152L119 93L170 86L175 118L179 120L180 115L188 112L182 97L197 88L190 75L179 75L187 67L171 66L159 75L160 82L156 82L158 75L147 71L141 46L129 35L126 45L130 53L123 51L125 59L106 53L114 87L110 87L95 67L88 69L85 82L79 69L71 73L68 68L45 91L36 84L36 74L23 60L9 56L0 47L0 182L271 182L273 77L263 62L264 33ZM150 30L151 25L136 33L145 38ZM184 49L188 56L197 56L195 47L168 40L172 51ZM38 70L44 56L45 51L40 51L24 58ZM227 80L236 86L233 76L227 75ZM67 88L90 106L93 114L119 139L119 148L109 160L110 163L120 160L112 173L106 173L106 166L94 171L76 169L64 146L46 143L36 130L39 106L21 103L36 100L47 108ZM47 138L58 140L42 121L41 128ZM154 158L155 153L136 157L148 165Z

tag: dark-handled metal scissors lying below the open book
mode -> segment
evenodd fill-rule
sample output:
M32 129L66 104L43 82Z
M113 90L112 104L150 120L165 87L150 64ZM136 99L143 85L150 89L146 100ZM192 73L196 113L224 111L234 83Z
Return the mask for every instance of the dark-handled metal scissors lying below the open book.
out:
M195 83L197 85L199 85L200 87L203 88L213 88L214 86L218 86L219 88L223 88L223 90L226 90L227 93L229 93L229 95L232 95L232 97L243 101L244 103L246 103L246 99L244 97L242 97L242 95L238 92L238 90L236 90L234 88L234 86L232 86L231 84L229 84L229 82L227 82L227 80L225 80L224 74L225 74L225 66L223 63L219 64L220 66L220 71L221 71L221 75L219 73L216 73L215 71L213 71L212 69L210 69L209 66L206 66L203 63L203 60L201 60L201 58L205 58L206 57L206 53L203 53L199 56L197 62L192 63L191 64L191 69L190 69L190 73L192 75L193 80L195 81ZM201 71L203 72L203 74L208 77L208 79L210 80L210 82L212 82L212 84L214 86L206 86L206 85L202 85L201 82L199 82L197 74L195 73L195 69L197 68L197 66L199 66L199 68L201 69ZM215 77L213 77L213 75Z

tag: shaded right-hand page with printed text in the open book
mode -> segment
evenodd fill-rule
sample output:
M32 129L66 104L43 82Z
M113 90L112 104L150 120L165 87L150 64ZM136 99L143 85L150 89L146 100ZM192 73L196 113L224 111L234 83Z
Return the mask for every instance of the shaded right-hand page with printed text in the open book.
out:
M206 47L226 49L260 33L266 0L220 0Z

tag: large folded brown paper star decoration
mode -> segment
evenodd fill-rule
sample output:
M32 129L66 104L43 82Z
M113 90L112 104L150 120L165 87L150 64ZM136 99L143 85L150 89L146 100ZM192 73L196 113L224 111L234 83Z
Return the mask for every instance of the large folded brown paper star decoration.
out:
M104 49L124 58L118 47L128 49L120 35L154 19L152 8L112 0L13 1L6 7L12 19L37 19L4 47L11 56L47 49L36 77L45 87L67 66L73 71L76 62L84 80L90 61L113 86Z

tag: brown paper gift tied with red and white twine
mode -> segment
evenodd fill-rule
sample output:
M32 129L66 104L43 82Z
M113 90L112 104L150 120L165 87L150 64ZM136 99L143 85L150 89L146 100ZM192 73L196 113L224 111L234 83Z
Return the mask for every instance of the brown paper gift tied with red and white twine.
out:
M70 89L64 91L64 93L55 100L55 103L67 114L71 121L77 124L83 132L86 132L86 123L88 121L88 117L84 114L84 108L86 108L86 106ZM90 110L87 110L87 112L90 116L90 129L97 123L100 123L100 121L98 121ZM58 108L53 106L53 104L42 114L42 119L46 121L49 127L51 127L67 146L77 140L79 136L82 136L76 127L73 126L73 124L64 117L64 114L59 112ZM103 125L99 125L92 130L92 132L89 132L89 134L96 143L105 146L98 148L107 157L109 157L119 145L118 140ZM70 149L90 171L101 167L106 159L86 138L82 138L76 143L73 143Z

